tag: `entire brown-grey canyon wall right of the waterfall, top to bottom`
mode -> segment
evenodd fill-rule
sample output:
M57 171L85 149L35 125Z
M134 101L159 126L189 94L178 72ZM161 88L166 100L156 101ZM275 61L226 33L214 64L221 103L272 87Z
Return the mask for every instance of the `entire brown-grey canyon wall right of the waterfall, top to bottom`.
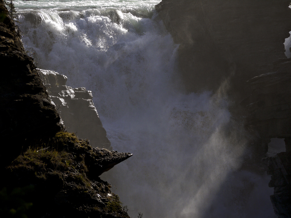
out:
M263 159L272 175L270 198L280 218L291 216L291 60L285 57L283 45L291 30L289 4L285 0L162 0L156 5L180 44L186 90L226 88L239 111L232 112L256 138L250 144L259 151L257 158L267 153L271 138L284 139L286 152Z

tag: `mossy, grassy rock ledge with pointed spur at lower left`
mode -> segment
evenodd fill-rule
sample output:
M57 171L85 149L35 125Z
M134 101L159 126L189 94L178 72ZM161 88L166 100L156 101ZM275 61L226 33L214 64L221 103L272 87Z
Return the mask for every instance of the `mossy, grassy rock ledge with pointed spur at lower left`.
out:
M90 172L116 153L67 132L29 147L1 173L0 217L129 217L111 186Z

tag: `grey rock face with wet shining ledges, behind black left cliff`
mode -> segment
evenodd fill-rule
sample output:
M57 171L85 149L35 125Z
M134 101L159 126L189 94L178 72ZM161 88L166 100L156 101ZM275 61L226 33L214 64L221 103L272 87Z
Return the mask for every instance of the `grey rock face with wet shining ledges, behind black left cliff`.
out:
M106 131L92 101L92 92L66 86L67 77L49 70L37 69L50 98L69 132L90 140L93 147L112 150Z

